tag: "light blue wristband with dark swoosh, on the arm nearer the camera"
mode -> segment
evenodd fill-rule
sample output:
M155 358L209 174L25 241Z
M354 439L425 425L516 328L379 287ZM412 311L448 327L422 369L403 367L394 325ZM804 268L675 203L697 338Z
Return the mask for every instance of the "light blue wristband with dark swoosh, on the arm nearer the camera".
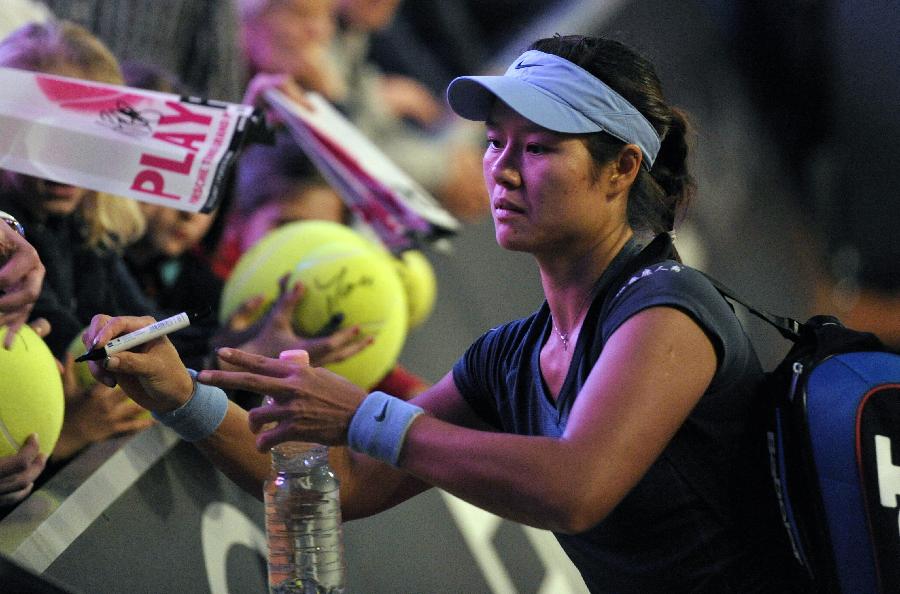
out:
M422 413L415 404L384 392L372 392L350 420L348 445L356 452L397 466L406 433Z

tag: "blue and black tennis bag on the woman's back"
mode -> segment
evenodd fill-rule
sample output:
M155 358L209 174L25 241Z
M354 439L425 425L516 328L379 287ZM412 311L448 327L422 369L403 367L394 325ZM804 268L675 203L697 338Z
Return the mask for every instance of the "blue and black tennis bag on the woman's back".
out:
M816 316L768 374L772 477L814 592L900 593L900 355Z

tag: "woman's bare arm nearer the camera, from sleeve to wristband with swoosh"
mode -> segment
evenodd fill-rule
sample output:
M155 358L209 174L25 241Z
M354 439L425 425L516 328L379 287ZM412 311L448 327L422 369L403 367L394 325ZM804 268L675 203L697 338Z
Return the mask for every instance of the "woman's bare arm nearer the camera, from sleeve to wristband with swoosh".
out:
M653 307L609 338L562 437L476 432L422 417L400 466L497 515L577 533L625 497L685 421L716 368L687 314Z

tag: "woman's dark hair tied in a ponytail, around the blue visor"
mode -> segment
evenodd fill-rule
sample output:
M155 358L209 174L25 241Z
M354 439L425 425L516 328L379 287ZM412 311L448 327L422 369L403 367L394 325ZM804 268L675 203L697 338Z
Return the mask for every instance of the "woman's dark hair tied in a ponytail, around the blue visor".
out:
M628 222L636 231L671 231L694 195L687 168L690 125L684 113L668 105L653 65L618 41L581 35L536 41L529 49L573 62L613 88L656 129L662 146L648 172L641 168L628 199ZM609 134L590 134L587 147L598 165L616 158L624 143Z

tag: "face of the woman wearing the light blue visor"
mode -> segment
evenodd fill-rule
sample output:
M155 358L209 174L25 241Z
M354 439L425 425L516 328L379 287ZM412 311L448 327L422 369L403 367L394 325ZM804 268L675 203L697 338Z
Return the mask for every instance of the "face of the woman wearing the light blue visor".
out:
M500 246L535 254L577 249L610 225L606 177L583 138L537 126L501 101L486 127L484 179Z

